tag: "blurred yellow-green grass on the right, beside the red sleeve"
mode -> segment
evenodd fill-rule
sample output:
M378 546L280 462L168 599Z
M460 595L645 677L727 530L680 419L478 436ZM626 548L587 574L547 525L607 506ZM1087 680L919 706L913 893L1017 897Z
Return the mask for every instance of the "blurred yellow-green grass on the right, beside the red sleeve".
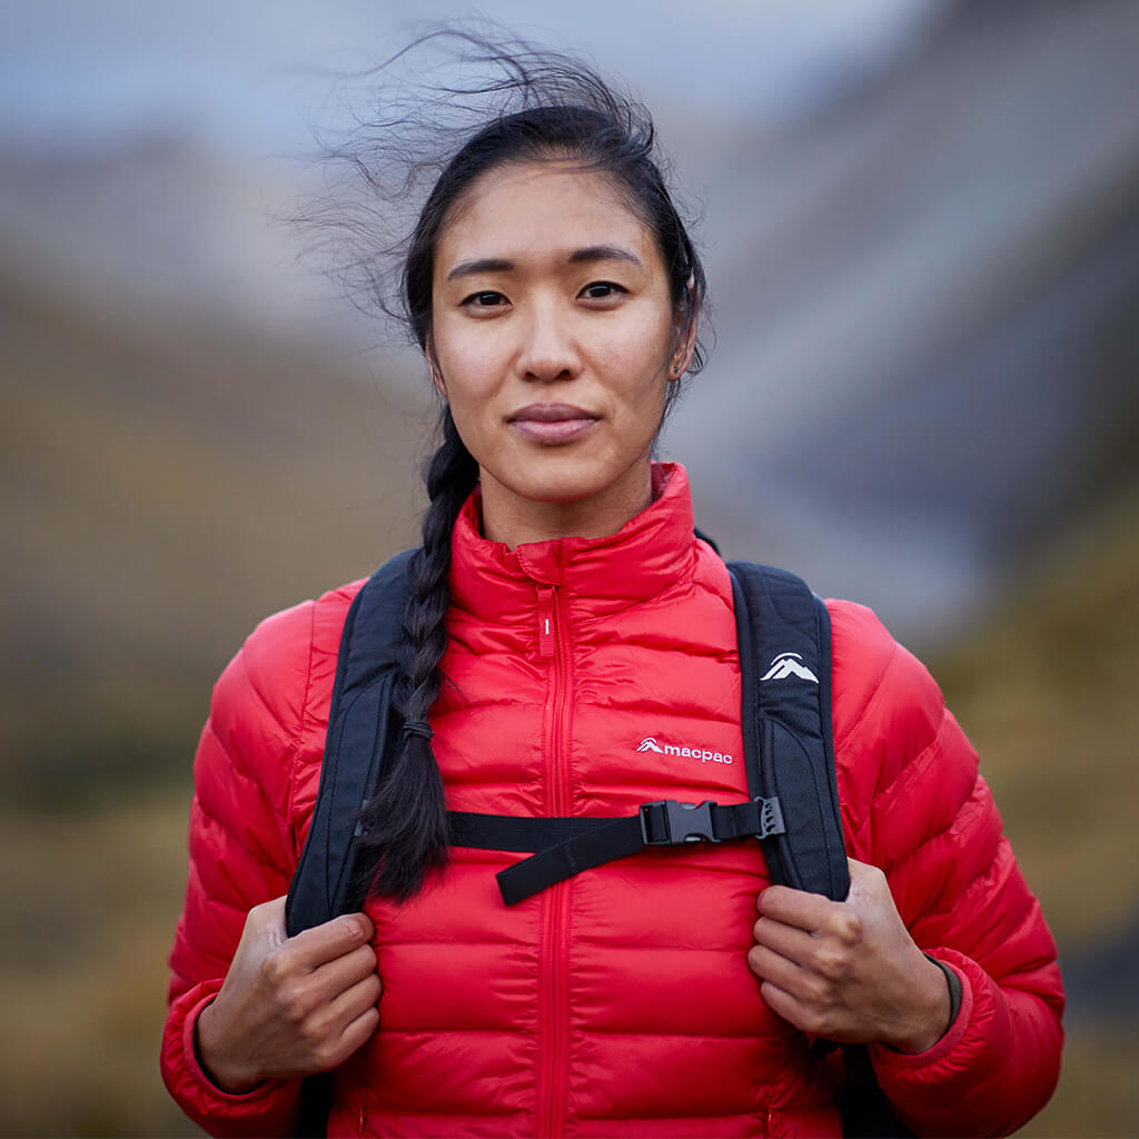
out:
M1095 968L1139 913L1139 487L1038 550L985 623L933 665L1062 969ZM1116 1008L1081 1005L1070 989L1060 1087L1023 1134L1139 1134L1137 988L1113 980Z

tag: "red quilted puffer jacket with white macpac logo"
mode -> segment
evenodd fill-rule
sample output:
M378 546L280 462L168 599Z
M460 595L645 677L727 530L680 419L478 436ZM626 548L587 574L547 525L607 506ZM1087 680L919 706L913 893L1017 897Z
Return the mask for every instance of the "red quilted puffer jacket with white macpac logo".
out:
M611 538L514 552L480 536L468 503L432 715L452 809L620 816L746 798L728 574L693 536L683 469L659 468L657 484ZM220 1091L194 1025L248 909L288 886L358 588L257 629L198 749L162 1062L216 1134L292 1125L297 1082ZM1008 1132L1056 1081L1055 945L929 675L869 611L830 613L849 851L886 871L915 940L962 986L937 1044L872 1047L875 1067L919 1132ZM648 737L672 747L642 749ZM456 849L412 903L369 903L382 1025L337 1073L331 1134L838 1133L834 1065L765 1007L745 961L769 880L757 843L647 850L507 908L494 874L521 857Z

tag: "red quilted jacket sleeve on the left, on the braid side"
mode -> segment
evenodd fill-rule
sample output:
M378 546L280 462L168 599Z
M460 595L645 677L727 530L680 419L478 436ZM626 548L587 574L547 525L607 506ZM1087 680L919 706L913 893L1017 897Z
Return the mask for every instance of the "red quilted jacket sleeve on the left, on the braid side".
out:
M284 894L296 863L292 769L309 687L312 605L259 625L214 687L194 762L186 906L170 956L162 1075L215 1136L288 1134L300 1081L243 1095L218 1088L195 1054L195 1025L224 981L249 909Z

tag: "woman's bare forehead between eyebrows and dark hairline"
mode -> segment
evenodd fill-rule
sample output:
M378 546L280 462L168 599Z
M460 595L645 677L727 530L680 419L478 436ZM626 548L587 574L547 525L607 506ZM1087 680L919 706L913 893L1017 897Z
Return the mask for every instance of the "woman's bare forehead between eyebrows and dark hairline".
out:
M596 245L650 256L656 241L611 175L563 162L511 163L472 185L440 235L436 268L468 256L516 260Z

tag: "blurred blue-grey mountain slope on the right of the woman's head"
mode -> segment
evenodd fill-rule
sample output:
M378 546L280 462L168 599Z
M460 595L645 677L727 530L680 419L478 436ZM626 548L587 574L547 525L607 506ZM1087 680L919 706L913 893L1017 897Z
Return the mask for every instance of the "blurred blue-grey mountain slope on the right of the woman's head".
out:
M1139 470L1137 49L1136 6L953 5L702 172L720 343L669 442L730 552L928 640Z

